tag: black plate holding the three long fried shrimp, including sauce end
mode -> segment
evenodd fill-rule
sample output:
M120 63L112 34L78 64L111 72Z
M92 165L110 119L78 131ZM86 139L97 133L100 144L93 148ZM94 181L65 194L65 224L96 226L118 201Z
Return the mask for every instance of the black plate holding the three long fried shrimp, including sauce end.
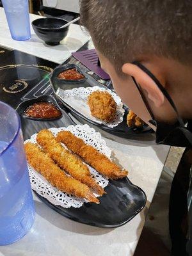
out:
M35 100L40 101L46 99L50 98L45 95L38 97ZM31 102L34 102L34 100L27 100L26 102L31 105ZM68 109L61 109L62 118L58 120L42 122L25 118L23 116L23 111L26 109L26 102L22 102L17 108L17 112L21 119L24 140L28 140L31 135L39 132L41 129L74 125L74 122L68 116ZM58 106L60 106L60 102L58 102ZM134 218L146 204L146 195L143 190L138 186L133 185L127 178L110 180L105 191L107 194L99 198L99 205L87 203L83 204L83 206L78 209L74 207L67 209L58 205L53 205L46 198L38 194L36 195L49 207L71 220L105 228L120 227L121 225L124 225Z

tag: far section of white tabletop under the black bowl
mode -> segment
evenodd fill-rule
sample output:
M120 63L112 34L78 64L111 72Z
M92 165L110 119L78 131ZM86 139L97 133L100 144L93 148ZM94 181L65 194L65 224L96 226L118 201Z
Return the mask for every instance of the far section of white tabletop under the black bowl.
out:
M30 14L30 20L41 18L39 15ZM33 54L45 60L62 63L67 60L72 52L76 52L88 40L89 36L83 33L81 27L70 24L67 36L60 42L60 45L47 45L36 36L31 26L31 38L26 41L16 41L10 36L6 16L3 8L0 8L0 44L22 52Z

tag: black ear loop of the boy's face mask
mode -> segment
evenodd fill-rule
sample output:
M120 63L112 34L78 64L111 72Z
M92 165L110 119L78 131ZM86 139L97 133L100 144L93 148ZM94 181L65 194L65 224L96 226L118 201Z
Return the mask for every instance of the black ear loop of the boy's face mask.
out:
M175 103L173 102L172 98L170 97L170 95L168 94L168 92L166 92L166 90L164 89L163 85L159 82L159 80L154 76L154 74L152 74L146 67L144 67L140 62L138 61L133 61L132 64L134 65L137 65L139 68L141 68L141 70L143 70L148 76L150 76L151 79L153 79L153 81L157 84L158 88L161 90L161 92L163 93L163 95L166 97L166 99L168 100L168 102L170 103L170 105L172 106L172 108L174 109L175 113L177 114L177 119L180 123L180 125L182 125L183 127L185 126L184 125L184 122L182 120L182 118L180 118L179 116L179 113L177 111L177 108L175 106ZM148 112L150 113L150 115L152 116L152 120L150 120L149 122L151 124L154 124L155 120L154 120L154 115L152 113L152 110L150 109L150 107L148 106L148 103L147 103L147 100L145 99L143 93L141 92L141 89L140 89L140 86L138 85L138 83L136 83L136 80L134 79L134 77L132 77L134 83L136 84L140 94L141 94L141 97L148 109Z

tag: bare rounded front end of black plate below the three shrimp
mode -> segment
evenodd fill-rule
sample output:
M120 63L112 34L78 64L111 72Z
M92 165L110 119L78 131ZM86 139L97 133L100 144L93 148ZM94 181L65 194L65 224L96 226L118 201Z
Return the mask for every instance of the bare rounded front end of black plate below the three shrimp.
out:
M51 204L46 198L36 195L54 211L63 216L87 225L115 228L132 220L145 206L145 192L131 183L128 178L110 180L105 188L107 192L99 198L100 204L86 203L80 208L63 208Z

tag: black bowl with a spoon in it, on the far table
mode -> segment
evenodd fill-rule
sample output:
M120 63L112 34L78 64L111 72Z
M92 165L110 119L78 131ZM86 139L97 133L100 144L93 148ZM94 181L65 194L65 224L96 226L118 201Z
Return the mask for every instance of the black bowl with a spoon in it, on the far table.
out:
M68 22L58 18L40 18L31 23L36 35L48 45L58 45L67 36L68 28L60 28Z

